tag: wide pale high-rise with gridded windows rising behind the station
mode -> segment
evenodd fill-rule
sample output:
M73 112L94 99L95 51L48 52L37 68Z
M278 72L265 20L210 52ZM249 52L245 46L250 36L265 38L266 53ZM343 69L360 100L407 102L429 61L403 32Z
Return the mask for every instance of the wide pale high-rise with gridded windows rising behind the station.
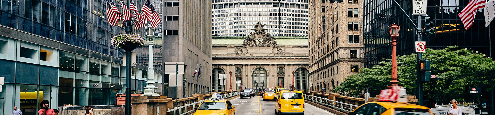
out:
M308 36L308 0L212 0L212 36L249 36L266 24L271 36Z

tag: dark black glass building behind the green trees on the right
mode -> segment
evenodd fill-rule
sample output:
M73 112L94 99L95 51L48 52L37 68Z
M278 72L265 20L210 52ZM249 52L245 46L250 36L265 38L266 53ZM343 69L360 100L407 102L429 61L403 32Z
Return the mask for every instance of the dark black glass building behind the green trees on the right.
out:
M397 0L407 15L416 24L417 16L411 15L411 0ZM388 28L393 23L402 25L400 36L397 38L397 55L414 53L414 41L417 40L413 24L391 0L366 0L363 8L364 31L364 66L371 68L382 61L382 58L391 58L392 44ZM423 38L427 48L444 49L446 46L459 46L469 50L479 51L489 56L488 28L484 27L483 13L475 16L473 26L465 30L457 16L469 2L460 0L458 6L448 7L451 0L428 0L428 15L434 20L435 34ZM424 16L422 17L424 26ZM490 28L494 30L492 26ZM492 35L494 36L494 35ZM495 42L492 43L495 46ZM492 53L495 49L492 47Z

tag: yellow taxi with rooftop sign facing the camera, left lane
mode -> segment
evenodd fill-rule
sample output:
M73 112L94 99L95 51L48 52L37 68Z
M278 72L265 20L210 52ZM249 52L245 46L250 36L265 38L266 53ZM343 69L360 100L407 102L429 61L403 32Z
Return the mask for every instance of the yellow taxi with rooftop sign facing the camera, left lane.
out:
M194 115L236 115L236 109L227 99L210 99L201 103Z

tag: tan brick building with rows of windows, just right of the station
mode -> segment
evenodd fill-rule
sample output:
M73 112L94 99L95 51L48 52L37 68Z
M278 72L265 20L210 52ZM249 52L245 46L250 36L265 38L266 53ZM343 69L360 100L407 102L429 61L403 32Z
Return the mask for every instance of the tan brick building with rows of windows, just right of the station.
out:
M309 0L311 91L331 93L363 68L362 0Z

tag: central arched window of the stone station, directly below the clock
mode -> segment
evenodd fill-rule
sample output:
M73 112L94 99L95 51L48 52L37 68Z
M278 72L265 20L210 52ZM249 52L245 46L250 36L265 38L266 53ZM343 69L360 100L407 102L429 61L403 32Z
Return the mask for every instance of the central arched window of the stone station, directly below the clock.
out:
M257 91L257 89L267 88L267 74L265 69L256 68L252 72L252 88Z

